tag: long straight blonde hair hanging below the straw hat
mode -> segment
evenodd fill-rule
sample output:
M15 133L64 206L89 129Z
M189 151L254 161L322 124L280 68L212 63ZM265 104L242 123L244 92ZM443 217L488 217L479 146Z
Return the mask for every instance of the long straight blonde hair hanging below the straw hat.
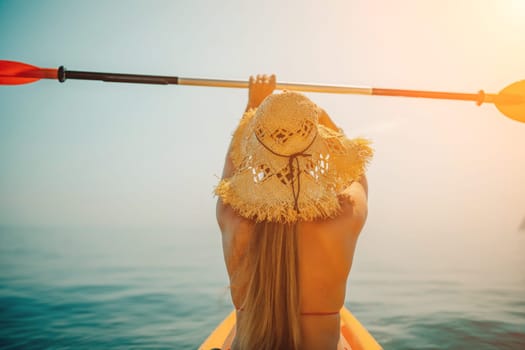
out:
M300 346L300 291L296 224L255 225L243 273L250 276L242 323L232 350L295 350Z

